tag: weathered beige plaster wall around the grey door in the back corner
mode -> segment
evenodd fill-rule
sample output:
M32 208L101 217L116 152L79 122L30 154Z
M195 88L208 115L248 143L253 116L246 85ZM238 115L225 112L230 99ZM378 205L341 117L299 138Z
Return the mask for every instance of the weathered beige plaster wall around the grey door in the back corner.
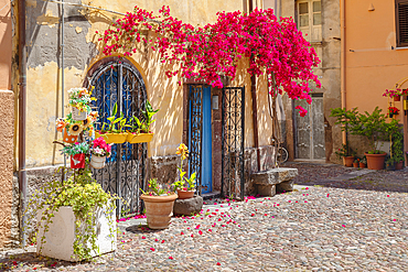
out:
M340 2L337 0L322 1L322 41L312 43L321 64L313 72L318 75L322 88L318 89L311 84L312 93L323 93L324 111L324 140L326 161L336 161L334 151L341 146L341 130L334 126L334 118L329 117L332 108L341 107L341 77L340 77ZM281 0L281 15L296 19L296 1ZM287 117L287 143L290 160L294 159L296 126L293 124L292 101L283 97ZM298 115L298 110L296 112ZM293 130L294 129L294 130Z

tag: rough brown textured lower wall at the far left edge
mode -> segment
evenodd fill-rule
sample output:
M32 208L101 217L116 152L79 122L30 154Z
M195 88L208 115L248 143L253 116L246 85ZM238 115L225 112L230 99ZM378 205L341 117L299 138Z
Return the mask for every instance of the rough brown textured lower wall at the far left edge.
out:
M13 181L14 94L0 90L0 249L9 247Z

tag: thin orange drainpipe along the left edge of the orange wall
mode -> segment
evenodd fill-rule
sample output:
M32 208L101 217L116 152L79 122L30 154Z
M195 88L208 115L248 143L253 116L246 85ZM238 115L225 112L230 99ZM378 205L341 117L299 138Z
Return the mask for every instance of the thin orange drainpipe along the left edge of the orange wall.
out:
M340 1L340 28L341 28L341 96L342 96L342 108L346 109L346 37L345 37L345 1ZM343 144L347 142L347 134L345 131L342 132Z

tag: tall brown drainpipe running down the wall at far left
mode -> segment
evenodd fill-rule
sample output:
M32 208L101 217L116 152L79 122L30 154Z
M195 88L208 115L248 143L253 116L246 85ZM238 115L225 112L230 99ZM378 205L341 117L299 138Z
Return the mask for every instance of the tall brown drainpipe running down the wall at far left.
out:
M25 210L26 172L25 172L25 105L26 105L26 52L25 52L25 0L19 0L19 193L20 209ZM25 216L21 218L21 229L25 228ZM25 246L25 235L21 233Z

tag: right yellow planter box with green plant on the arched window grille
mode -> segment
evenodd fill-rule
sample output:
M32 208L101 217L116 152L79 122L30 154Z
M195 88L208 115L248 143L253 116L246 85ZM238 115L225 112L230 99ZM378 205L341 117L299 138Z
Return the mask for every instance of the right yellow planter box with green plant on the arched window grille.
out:
M159 109L154 110L149 100L146 100L146 110L142 110L143 117L139 119L133 116L126 140L130 143L150 142L153 138L153 133L150 131L150 126L155 121L152 120L152 117L158 111Z

